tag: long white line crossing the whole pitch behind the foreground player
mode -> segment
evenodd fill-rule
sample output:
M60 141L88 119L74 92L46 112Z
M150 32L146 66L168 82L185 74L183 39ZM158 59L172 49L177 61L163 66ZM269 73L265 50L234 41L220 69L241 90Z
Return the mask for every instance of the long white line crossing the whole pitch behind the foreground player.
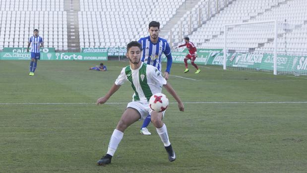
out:
M184 102L184 104L297 104L307 102ZM0 105L93 105L96 103L0 103ZM105 103L107 105L127 104L125 102ZM171 102L170 104L177 104Z

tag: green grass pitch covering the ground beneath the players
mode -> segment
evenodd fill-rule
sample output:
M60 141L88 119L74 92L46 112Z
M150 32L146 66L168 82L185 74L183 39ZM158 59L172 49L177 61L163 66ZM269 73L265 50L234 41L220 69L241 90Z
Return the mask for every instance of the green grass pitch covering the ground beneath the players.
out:
M29 76L29 61L0 61L0 173L306 172L306 76L201 65L194 74L190 64L188 73L173 64L168 80L184 113L163 90L177 160L168 161L152 124L144 136L136 122L112 164L96 166L132 95L126 82L108 101L118 104L96 106L128 64L105 61L107 72L88 70L98 63L39 61Z

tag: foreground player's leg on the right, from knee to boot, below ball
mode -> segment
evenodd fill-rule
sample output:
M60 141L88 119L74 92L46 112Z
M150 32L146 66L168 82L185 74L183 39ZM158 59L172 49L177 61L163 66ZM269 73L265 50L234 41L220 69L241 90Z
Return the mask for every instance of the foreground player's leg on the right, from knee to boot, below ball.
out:
M175 152L173 150L173 147L171 145L171 142L169 140L169 135L167 132L166 125L163 123L162 118L163 118L163 113L157 113L155 111L151 112L151 121L154 124L154 126L157 129L157 133L159 134L164 147L168 153L169 161L173 162L176 159Z

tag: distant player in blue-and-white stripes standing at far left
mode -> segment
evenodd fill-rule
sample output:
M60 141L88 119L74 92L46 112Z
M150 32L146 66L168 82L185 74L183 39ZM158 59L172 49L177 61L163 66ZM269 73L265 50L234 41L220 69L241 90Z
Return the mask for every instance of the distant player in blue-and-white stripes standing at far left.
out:
M38 35L38 29L34 29L33 36L29 38L28 49L31 45L31 62L30 62L30 76L34 76L34 71L37 66L37 60L41 58L40 48L44 46L44 41L41 36Z

